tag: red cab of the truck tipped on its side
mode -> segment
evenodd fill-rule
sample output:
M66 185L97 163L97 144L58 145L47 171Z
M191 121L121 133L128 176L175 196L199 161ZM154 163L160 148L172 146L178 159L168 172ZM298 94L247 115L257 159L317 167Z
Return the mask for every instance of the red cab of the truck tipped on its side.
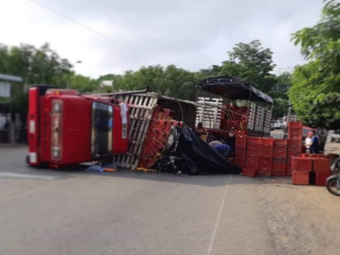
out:
M123 112L125 111L125 112ZM28 90L28 163L50 167L125 153L126 105L72 89L34 86Z

